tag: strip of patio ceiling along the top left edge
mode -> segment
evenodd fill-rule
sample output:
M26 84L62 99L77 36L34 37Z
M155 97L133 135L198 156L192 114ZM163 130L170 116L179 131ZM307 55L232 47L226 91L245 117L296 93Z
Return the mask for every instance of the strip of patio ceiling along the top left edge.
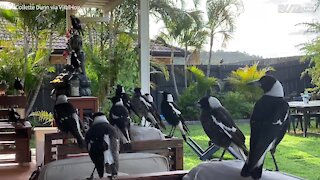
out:
M81 7L96 7L111 10L123 0L0 0L12 3L44 4L44 5L74 5Z

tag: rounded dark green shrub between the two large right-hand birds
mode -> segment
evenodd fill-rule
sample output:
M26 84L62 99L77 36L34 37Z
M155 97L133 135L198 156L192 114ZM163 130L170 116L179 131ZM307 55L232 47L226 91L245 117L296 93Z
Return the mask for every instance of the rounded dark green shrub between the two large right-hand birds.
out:
M240 92L226 92L220 99L222 105L230 112L233 119L248 119L254 103L249 102Z

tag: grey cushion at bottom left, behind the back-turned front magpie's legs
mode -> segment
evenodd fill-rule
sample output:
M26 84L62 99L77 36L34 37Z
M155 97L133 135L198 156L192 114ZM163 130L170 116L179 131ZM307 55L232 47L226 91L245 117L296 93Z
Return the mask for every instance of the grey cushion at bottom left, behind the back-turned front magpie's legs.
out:
M74 180L90 176L94 164L89 156L53 161L41 170L39 180ZM122 153L119 157L119 175L169 171L166 157L152 153ZM105 175L107 176L107 174ZM98 177L95 172L95 177Z

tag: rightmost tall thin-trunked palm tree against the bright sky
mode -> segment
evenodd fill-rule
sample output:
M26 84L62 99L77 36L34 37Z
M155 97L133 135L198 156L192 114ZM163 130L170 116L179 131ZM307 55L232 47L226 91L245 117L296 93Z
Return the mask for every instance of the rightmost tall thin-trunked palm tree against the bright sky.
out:
M222 35L222 46L231 39L235 29L235 19L241 10L240 0L207 0L206 9L210 36L210 52L207 65L207 77L210 75L213 40L218 34Z

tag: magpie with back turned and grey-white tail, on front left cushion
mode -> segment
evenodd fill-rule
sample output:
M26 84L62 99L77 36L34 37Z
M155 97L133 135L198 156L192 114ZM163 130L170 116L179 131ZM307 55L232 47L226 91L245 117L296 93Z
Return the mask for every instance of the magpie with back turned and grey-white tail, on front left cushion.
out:
M113 179L119 169L119 138L114 127L109 124L106 116L97 112L93 114L92 127L86 134L87 149L89 156L95 165L93 173L97 169L99 177L102 178L104 170L111 174Z

